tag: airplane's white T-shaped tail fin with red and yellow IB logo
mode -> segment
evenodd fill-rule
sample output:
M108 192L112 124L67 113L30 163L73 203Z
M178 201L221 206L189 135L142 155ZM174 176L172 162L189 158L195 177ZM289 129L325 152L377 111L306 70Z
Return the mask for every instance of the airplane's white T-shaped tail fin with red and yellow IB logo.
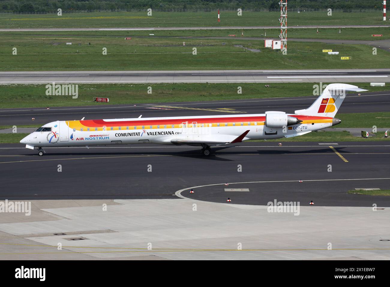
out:
M332 117L336 115L341 103L344 101L346 92L368 91L349 84L329 84L317 98L317 100L305 110L297 110L295 114L307 116Z

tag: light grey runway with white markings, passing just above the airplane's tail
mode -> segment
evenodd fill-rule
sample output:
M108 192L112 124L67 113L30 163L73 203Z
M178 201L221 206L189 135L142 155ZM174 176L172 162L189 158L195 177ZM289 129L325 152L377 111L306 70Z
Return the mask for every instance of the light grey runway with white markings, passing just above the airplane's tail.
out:
M0 72L0 84L389 82L390 69Z

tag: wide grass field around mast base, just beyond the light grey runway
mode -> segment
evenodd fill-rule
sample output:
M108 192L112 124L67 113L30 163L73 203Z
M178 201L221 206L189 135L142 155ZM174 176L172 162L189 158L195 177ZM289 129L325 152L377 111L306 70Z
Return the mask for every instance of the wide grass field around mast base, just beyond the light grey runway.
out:
M289 42L288 54L264 48L262 40L124 38L108 41L99 37L39 37L21 43L0 46L1 71L110 71L110 70L273 70L273 69L349 69L388 68L390 53L378 49L377 55L367 45L333 45ZM73 42L51 45L47 42ZM115 43L119 41L119 43ZM222 43L226 45L222 45ZM77 45L82 43L81 46ZM91 43L91 45L88 45ZM234 45L261 50L249 52ZM12 48L17 55L12 55ZM193 55L193 47L197 55ZM103 55L103 48L107 55ZM323 49L340 52L328 55ZM343 61L341 56L351 56Z

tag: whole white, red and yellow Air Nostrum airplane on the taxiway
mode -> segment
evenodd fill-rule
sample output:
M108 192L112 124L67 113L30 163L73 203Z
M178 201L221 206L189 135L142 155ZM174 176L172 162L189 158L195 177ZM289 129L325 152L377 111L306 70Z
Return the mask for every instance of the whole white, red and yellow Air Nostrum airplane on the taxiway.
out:
M332 127L347 91L367 91L349 84L329 84L307 109L295 114L268 111L265 114L186 116L128 119L87 119L53 121L27 135L20 143L38 149L45 147L170 144L202 147L210 155L211 146L224 146L254 139L278 139L304 135Z

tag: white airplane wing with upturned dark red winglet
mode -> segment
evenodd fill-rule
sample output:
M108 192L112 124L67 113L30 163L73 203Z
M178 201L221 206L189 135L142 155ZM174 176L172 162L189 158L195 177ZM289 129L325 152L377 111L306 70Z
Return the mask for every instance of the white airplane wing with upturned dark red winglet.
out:
M173 144L188 144L194 146L202 146L202 144L207 145L221 145L221 144L232 144L232 143L241 143L245 136L248 134L249 130L243 132L243 134L239 135L202 135L199 138L174 138L171 139L171 143Z

